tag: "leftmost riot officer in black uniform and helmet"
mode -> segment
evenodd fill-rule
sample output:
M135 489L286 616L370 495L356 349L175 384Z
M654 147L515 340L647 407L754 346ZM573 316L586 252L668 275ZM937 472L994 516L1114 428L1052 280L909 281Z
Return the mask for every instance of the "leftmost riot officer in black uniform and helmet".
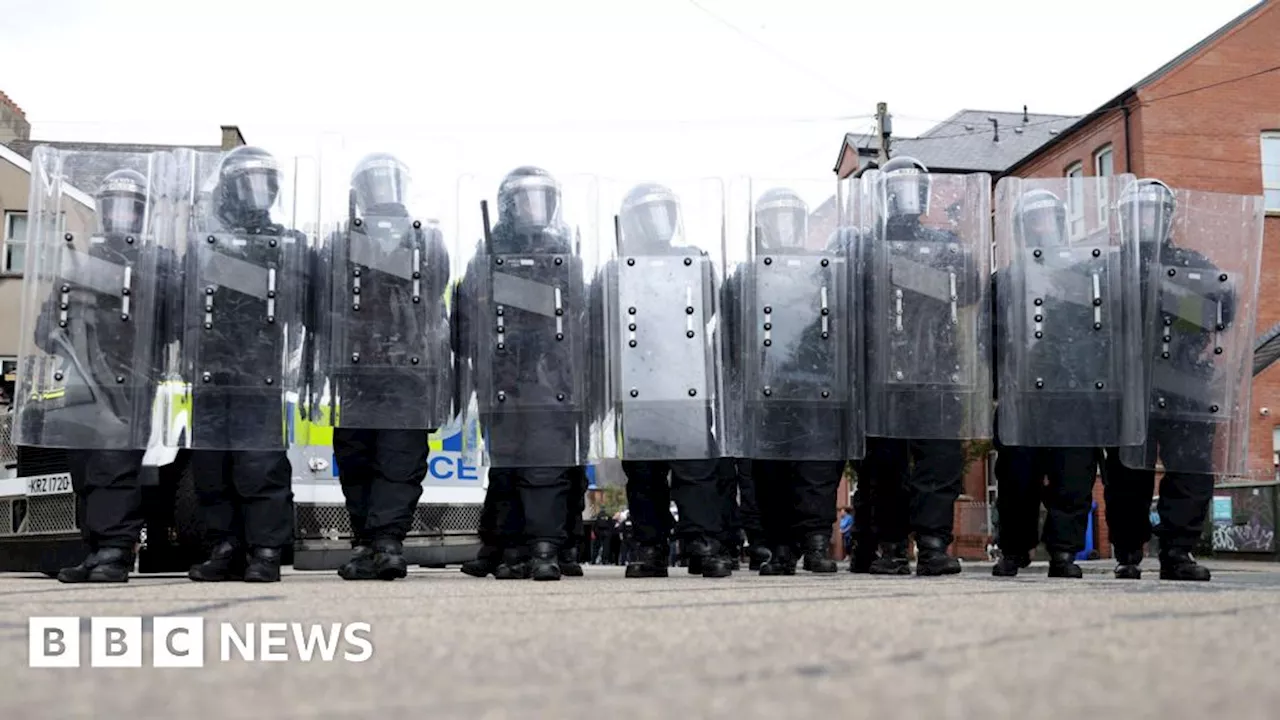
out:
M165 301L180 282L172 254L142 236L147 193L147 179L134 170L106 176L97 193L100 232L90 238L87 254L65 250L72 260L64 261L60 282L41 310L35 340L45 352L69 361L64 372L83 377L67 380L59 407L24 409L18 421L35 430L26 434L64 436L44 438L54 442L95 433L134 442L147 437L161 380L160 348L175 336ZM68 234L68 240L74 237ZM124 279L123 268L156 277ZM118 274L129 290L104 287L109 273ZM150 351L145 350L148 346ZM83 413L88 414L77 419ZM95 414L100 424L93 421ZM44 432L37 430L41 424ZM63 569L59 580L128 579L143 525L142 456L141 450L67 451L77 519L90 555Z

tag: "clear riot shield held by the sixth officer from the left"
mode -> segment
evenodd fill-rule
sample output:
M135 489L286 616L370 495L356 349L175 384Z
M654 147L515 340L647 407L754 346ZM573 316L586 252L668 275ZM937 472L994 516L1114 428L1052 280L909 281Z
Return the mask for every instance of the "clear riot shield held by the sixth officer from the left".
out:
M726 334L741 383L741 457L860 456L858 299L837 191L829 179L733 181L731 218L741 224L730 237L741 260L726 283Z

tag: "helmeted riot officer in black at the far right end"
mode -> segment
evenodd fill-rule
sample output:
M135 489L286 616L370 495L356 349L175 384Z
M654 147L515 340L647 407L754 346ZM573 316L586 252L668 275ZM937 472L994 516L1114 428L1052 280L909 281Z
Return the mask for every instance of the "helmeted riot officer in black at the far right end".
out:
M1228 275L1220 273L1203 254L1174 243L1174 218L1179 208L1174 192L1165 183L1157 179L1133 183L1123 192L1119 210L1128 218L1126 227L1137 232L1140 247L1142 315L1147 329L1143 350L1148 363L1146 372L1153 372L1153 363L1169 363L1180 377L1203 378L1207 384L1212 377L1212 363L1222 356L1215 354L1213 348L1225 345L1216 336L1224 331L1231 332L1231 325L1238 322L1236 292L1244 288L1231 288L1226 283ZM1226 228L1225 224L1221 227ZM1212 240L1230 249L1226 231L1222 237ZM1194 283L1194 277L1210 283L1208 290L1179 287L1179 283ZM1156 287L1152 288L1152 284ZM1184 296L1185 306L1171 310L1165 304L1167 292ZM1192 301L1203 302L1208 307L1189 307ZM1203 324L1184 320L1184 316L1201 314L1212 320ZM1252 338L1248 342L1252 343ZM1206 357L1210 360L1206 361ZM1165 392L1161 379L1157 375L1148 383L1152 388L1152 406L1147 443L1133 451L1107 448L1102 480L1107 528L1117 562L1115 575L1120 579L1142 577L1139 564L1143 544L1152 534L1149 511L1156 487L1155 460L1158 456L1165 468L1157 503L1160 578L1203 582L1210 579L1210 570L1192 557L1192 550L1201 537L1212 502L1217 427L1194 419L1197 415L1207 415L1206 409L1196 406L1197 397L1188 397L1185 393L1180 396L1176 388L1164 388L1167 391ZM1221 384L1230 386L1228 382Z

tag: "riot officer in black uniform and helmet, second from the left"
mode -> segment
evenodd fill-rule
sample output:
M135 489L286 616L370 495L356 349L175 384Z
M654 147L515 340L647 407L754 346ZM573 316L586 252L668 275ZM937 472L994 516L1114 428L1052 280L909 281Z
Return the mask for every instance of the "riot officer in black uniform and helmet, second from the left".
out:
M236 149L219 169L212 229L188 238L184 351L195 374L192 443L200 448L191 470L211 548L191 569L192 580L243 571L246 582L278 582L283 550L293 542L283 380L275 375L289 348L285 333L301 325L308 259L306 238L270 217L278 193L275 159ZM250 287L247 275L237 275L250 272L265 284ZM279 450L223 450L275 443Z

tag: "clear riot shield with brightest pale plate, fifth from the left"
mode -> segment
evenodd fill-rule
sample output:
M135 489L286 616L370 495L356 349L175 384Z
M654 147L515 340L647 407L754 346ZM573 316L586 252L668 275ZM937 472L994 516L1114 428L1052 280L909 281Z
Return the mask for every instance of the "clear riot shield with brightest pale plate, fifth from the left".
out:
M698 460L726 452L717 293L719 178L602 179L608 261L590 286L593 421L602 455Z

